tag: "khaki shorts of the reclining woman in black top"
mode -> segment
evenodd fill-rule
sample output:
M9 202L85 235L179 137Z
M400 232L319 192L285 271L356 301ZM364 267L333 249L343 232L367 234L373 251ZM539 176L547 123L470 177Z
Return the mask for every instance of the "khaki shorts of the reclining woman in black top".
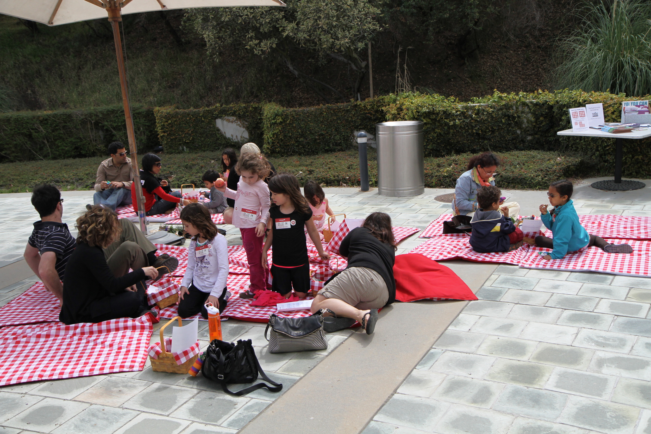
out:
M318 292L339 299L359 310L379 309L389 301L389 290L377 271L365 267L346 268Z

